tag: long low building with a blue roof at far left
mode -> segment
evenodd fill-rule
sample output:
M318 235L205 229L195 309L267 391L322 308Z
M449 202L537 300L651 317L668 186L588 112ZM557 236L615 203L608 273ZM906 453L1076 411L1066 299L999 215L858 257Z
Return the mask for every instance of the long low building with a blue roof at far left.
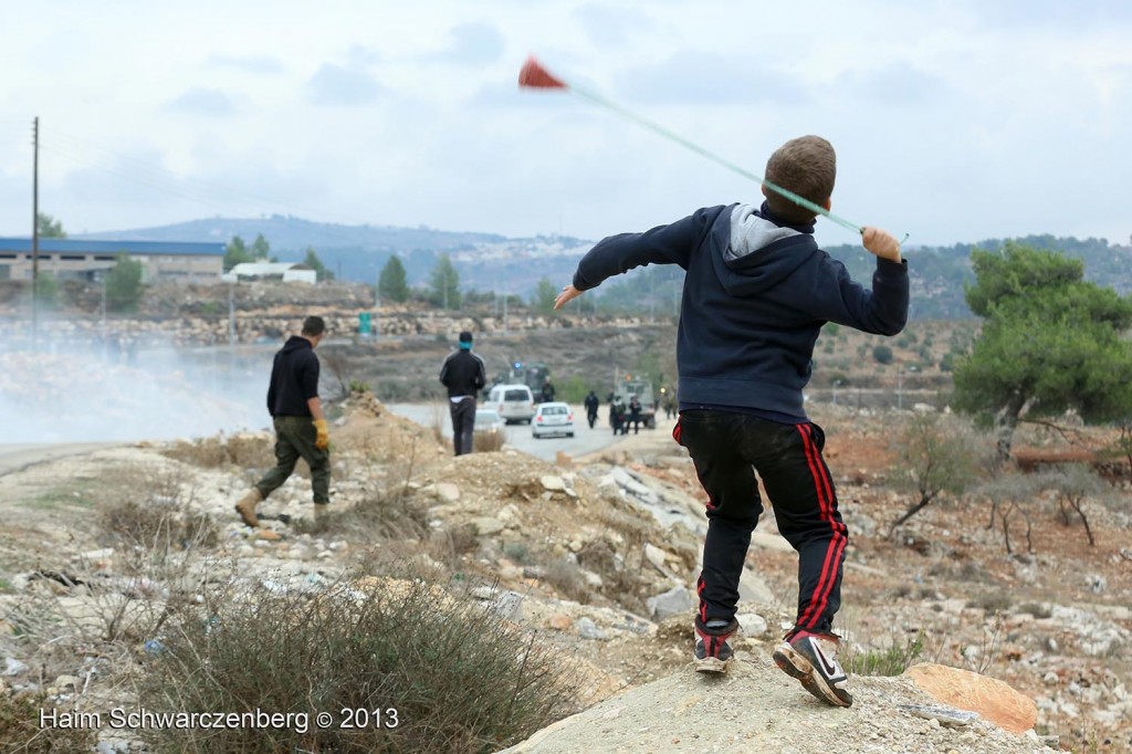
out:
M96 280L118 255L142 263L146 283L216 283L224 272L224 243L180 241L87 241L40 239L40 274L59 280ZM32 239L0 238L0 280L32 280Z

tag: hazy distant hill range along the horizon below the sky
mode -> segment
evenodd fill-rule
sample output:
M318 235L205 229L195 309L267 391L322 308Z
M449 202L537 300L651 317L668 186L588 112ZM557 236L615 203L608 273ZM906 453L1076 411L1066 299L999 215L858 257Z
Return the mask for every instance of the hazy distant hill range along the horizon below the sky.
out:
M410 285L426 285L440 254L448 254L465 290L496 291L529 297L539 280L563 284L571 280L578 258L593 241L561 235L507 238L495 233L441 231L427 226L337 225L290 215L260 219L212 217L139 230L88 233L76 238L153 241L228 241L240 235L251 242L267 239L272 254L285 262L302 259L314 248L340 279L374 282L389 257L405 265ZM1132 293L1132 246L1105 239L1029 235L1014 239L1039 249L1063 251L1084 262L1086 277ZM912 275L912 317L953 319L970 317L963 286L972 280L970 254L976 248L998 249L1004 239L950 247L908 247ZM855 279L867 284L873 259L860 246L843 245L827 251L844 263ZM599 297L604 306L671 312L679 300L676 269L649 268L610 281Z

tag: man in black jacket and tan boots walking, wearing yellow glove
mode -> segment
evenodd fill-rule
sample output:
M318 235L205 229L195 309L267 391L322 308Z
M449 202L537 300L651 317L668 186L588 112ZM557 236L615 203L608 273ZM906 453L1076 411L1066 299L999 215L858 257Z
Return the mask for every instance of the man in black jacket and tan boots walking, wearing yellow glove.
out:
M292 335L275 354L272 382L267 388L267 411L275 426L275 468L256 482L235 504L240 519L258 526L256 505L278 489L294 471L299 459L310 466L310 487L315 495L315 515L331 502L331 439L318 399L317 346L326 334L321 317L307 317L302 334Z

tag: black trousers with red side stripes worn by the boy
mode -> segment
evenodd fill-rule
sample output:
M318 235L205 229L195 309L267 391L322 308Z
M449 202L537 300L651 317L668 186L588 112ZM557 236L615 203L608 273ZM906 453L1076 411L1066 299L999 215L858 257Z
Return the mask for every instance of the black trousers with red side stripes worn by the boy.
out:
M841 607L841 566L849 535L822 459L822 428L697 410L680 412L672 436L688 448L707 492L707 535L696 583L700 619L735 617L751 533L763 512L757 471L779 531L798 551L795 626L830 631Z

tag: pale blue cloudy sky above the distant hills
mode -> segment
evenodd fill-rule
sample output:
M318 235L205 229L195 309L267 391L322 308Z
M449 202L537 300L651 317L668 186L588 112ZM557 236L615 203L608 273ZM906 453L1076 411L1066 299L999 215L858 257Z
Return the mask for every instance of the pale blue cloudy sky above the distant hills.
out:
M600 238L757 186L561 77L762 174L839 153L834 212L950 245L1132 233L1126 0L0 1L0 234L293 214ZM848 242L834 225L820 240Z

